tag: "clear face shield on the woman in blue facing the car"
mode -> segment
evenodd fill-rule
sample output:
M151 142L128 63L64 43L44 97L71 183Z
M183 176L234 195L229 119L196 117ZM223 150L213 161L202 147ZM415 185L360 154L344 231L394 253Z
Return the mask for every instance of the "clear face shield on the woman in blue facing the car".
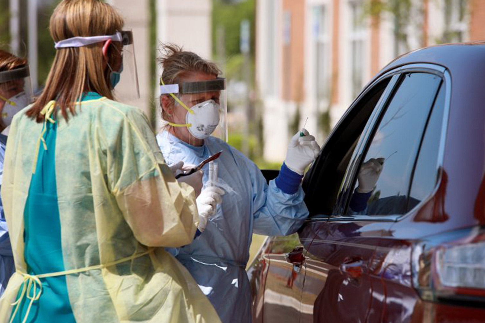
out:
M161 83L165 130L193 146L209 136L227 141L226 78Z

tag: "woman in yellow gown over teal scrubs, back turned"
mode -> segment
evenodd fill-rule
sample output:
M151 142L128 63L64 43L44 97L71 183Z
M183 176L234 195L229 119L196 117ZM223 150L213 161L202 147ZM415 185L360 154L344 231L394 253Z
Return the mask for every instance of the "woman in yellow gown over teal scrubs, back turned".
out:
M16 273L0 322L220 322L163 248L193 240L194 189L174 178L143 113L113 101L132 41L122 27L100 0L64 0L51 16L46 87L7 142L1 198Z

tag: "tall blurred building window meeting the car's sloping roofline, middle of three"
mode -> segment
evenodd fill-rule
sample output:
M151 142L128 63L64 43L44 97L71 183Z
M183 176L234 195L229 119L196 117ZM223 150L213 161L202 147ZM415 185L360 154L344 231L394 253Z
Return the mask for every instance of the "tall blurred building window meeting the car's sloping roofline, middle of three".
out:
M364 39L365 26L361 1L350 1L350 48L351 48L351 89L354 99L364 83Z

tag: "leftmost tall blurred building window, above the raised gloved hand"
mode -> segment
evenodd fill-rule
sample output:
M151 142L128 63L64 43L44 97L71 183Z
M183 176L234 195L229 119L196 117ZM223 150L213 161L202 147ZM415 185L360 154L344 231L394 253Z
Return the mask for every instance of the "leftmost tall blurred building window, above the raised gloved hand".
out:
M325 5L313 7L313 48L315 95L319 111L328 107L330 93L330 33L329 15Z

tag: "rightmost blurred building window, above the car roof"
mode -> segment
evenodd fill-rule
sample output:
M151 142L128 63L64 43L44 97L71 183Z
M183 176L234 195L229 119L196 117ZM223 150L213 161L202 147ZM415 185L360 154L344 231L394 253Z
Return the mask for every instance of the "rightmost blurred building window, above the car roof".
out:
M443 0L445 31L443 43L457 43L465 40L465 22L468 0Z

